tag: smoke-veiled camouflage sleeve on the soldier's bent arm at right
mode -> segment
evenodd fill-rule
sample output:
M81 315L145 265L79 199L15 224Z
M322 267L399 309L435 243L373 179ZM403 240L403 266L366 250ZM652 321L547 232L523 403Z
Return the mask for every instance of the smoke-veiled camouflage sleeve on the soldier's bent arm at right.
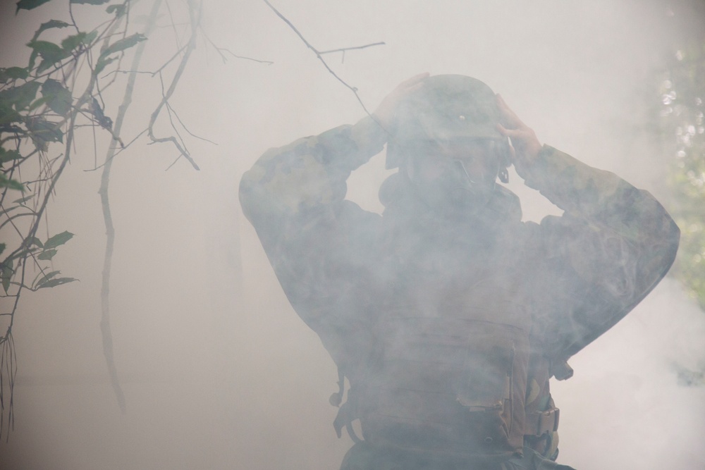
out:
M525 183L563 209L541 221L538 335L567 359L666 276L680 230L649 192L544 146Z

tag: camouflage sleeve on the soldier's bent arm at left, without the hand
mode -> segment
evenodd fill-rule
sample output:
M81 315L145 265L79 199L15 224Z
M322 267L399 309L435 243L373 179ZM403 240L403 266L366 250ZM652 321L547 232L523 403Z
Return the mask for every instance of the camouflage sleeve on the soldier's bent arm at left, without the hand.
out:
M240 182L245 216L289 301L314 330L330 312L345 314L360 284L355 277L364 278L364 247L373 245L380 216L345 200L345 180L385 142L384 130L363 118L269 149Z

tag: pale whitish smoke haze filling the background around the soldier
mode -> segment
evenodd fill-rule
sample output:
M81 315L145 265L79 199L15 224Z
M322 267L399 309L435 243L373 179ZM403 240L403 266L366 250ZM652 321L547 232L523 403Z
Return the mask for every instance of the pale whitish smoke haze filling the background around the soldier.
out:
M0 66L24 64L23 44L39 23L66 19L67 3L14 16L15 1L2 1ZM664 51L705 25L682 2L274 4L321 50L386 42L348 51L344 62L326 56L370 111L416 73L472 75L501 92L541 142L668 206L670 156L644 130L645 96ZM288 305L237 187L265 149L354 123L364 111L262 1L205 0L202 24L220 47L274 64L223 64L202 39L171 101L192 132L217 143L188 141L201 171L182 159L165 172L175 151L144 140L114 163L111 312L127 413L116 404L100 342L104 227L99 172L84 171L94 165L86 132L49 212L52 233L75 233L54 261L80 283L22 300L13 328L15 429L0 443L0 469L337 469L351 445L333 432L336 369ZM164 46L145 70L173 54L170 28L150 39ZM145 102L158 93L146 75L138 88ZM152 112L137 112L139 103L125 140ZM378 156L357 171L349 197L379 210L383 168ZM511 179L525 218L555 210ZM672 366L705 360L703 338L705 315L668 279L573 358L575 377L553 393L559 461L580 470L705 468L705 388L679 385Z

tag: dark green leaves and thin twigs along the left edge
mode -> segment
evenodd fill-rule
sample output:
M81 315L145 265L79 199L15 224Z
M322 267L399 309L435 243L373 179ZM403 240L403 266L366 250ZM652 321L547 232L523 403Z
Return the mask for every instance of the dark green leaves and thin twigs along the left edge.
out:
M49 1L20 0L16 14ZM113 140L121 143L113 134L113 122L102 104L102 92L115 81L115 75L106 79L101 74L109 73L108 68L113 72L118 70L123 56L147 39L142 34L128 32L131 4L130 0L70 0L70 20L51 19L42 23L26 43L30 49L27 63L0 68L0 298L4 299L0 304L3 348L0 366L3 368L7 365L6 342L11 341L23 290L36 291L75 281L61 276L61 271L53 266L59 249L73 234L63 231L41 237L39 227L45 220L43 216L56 182L75 152L75 130L81 125L92 125L106 130ZM73 20L72 8L104 8L107 20L98 27L82 29ZM49 32L61 39L48 39ZM4 409L2 383L0 380L0 408Z

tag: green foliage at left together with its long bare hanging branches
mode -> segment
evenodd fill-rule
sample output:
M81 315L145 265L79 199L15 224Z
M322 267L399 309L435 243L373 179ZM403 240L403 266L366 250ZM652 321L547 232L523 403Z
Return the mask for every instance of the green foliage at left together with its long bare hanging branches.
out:
M50 0L20 0L16 13L32 10ZM12 422L12 392L16 373L12 328L18 311L20 297L25 291L37 291L47 287L72 283L76 279L61 276L54 268L61 247L71 240L72 233L63 231L42 237L48 230L42 225L46 220L47 204L55 194L56 182L61 177L68 161L76 149L75 132L82 126L92 126L96 132L109 134L109 149L103 166L100 197L106 223L106 268L103 271L102 321L104 354L118 395L118 403L124 409L124 399L117 381L116 368L112 362L112 339L109 331L107 298L109 266L112 253L113 231L107 197L107 184L111 161L116 149L124 149L121 140L121 124L125 110L131 101L135 86L136 67L141 50L147 44L147 35L153 29L160 0L147 4L151 14L144 31L134 32L128 18L133 0L122 0L116 4L96 7L109 0L71 0L68 2L68 18L51 19L42 23L26 43L30 57L26 66L0 68L0 434ZM75 22L71 8L97 8L103 15L102 23L95 28L82 29ZM160 116L161 109L174 113L168 104L176 83L180 78L188 55L195 49L196 27L200 8L195 0L186 1L190 21L185 23L190 29L188 46L180 49L178 68L171 75L165 72L166 66L179 57L168 59L157 72L162 85L167 82L167 92L163 92L151 113L149 125L137 135L147 134L152 142L171 142L180 156L192 161L185 144L177 137L154 137L152 126ZM171 11L170 11L171 15ZM60 41L50 40L47 31ZM140 49L142 48L142 49ZM116 83L117 76L125 73L121 64L125 56L133 56L133 70L124 88L123 104L119 106L115 121L106 112L106 89ZM166 76L165 76L166 75ZM145 76L145 75L142 75ZM168 83L171 82L171 83ZM80 87L80 89L79 89ZM135 137L136 139L136 137ZM96 168L97 169L97 168ZM104 326L107 326L104 328ZM9 400L7 392L9 392ZM8 421L4 417L8 414ZM5 424L7 423L7 425Z

